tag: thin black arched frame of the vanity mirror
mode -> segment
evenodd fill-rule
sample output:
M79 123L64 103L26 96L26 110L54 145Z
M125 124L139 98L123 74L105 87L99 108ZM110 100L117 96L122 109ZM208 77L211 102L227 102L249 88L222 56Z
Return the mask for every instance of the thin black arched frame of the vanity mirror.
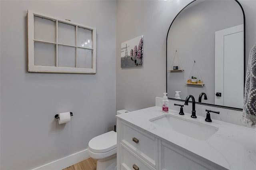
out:
M167 56L168 56L168 54L167 54L167 45L168 45L168 34L169 34L169 31L170 31L170 28L171 28L171 26L172 26L172 24L173 24L173 22L175 21L175 19L178 17L178 15L187 7L187 6L189 6L190 4L192 4L193 2L195 2L195 1L197 1L197 0L193 0L193 1L191 1L190 3L188 3L184 8L182 8L182 10L180 10L180 12L178 12L178 14L174 17L174 19L172 20L172 23L171 23L171 25L170 25L170 27L169 27L169 29L168 29L168 32L167 32L167 36L166 36L166 93L167 93L167 79L168 79L168 77L167 77L167 73L168 73L168 71L167 71ZM240 8L241 8L241 10L242 10L242 13L243 13L243 18L244 18L244 85L245 85L245 78L246 78L246 69L245 69L245 67L246 67L246 65L245 65L245 15L244 15L244 8L242 7L242 5L240 4L240 2L238 2L238 0L234 0L234 1L236 1L237 3L238 3L238 5L240 6ZM174 98L170 98L170 97L168 97L168 99L169 100L174 100L174 101L185 101L185 100L182 100L182 99L174 99ZM189 101L190 103L191 103L191 101ZM199 105L207 105L207 106L213 106L213 107L220 107L220 108L224 108L224 109L232 109L232 110L237 110L237 111L243 111L243 109L241 109L241 108L236 108L236 107L228 107L228 106L222 106L222 105L214 105L214 104L209 104L209 103L200 103L200 102L196 102L196 104L199 104Z

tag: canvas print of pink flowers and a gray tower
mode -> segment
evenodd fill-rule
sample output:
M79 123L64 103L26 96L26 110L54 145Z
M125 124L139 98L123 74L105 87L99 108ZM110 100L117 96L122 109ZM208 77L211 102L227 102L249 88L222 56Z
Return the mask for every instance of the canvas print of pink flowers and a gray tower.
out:
M143 36L121 43L121 67L140 67L143 65Z

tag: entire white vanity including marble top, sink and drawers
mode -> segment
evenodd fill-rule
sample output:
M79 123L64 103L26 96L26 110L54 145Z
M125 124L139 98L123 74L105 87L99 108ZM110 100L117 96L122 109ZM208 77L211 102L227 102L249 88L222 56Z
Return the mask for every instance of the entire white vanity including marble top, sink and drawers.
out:
M190 115L158 106L116 115L117 169L256 170L255 129Z

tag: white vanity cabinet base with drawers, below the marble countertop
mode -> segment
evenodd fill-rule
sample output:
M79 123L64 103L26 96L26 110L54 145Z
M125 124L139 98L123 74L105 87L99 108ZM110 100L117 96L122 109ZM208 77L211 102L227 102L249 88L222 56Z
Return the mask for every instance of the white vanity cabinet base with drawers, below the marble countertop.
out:
M117 170L225 169L120 119L117 119L117 147Z

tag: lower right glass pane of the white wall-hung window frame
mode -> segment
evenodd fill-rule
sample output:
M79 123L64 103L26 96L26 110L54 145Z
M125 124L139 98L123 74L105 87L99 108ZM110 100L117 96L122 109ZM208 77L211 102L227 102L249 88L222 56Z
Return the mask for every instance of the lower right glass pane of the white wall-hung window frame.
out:
M77 67L92 68L92 50L83 48L77 49Z

